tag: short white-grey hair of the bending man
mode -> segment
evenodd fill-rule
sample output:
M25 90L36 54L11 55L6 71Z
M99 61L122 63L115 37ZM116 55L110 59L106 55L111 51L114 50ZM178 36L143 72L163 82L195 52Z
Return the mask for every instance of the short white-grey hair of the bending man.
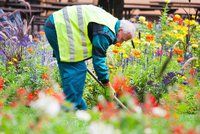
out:
M120 28L123 29L125 33L130 33L132 38L135 36L136 25L128 20L120 20Z

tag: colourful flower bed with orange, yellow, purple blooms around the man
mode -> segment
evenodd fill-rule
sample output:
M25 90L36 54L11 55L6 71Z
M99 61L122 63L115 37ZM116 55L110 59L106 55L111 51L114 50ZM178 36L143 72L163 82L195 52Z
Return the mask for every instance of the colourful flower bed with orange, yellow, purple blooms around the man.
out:
M133 42L108 50L110 79L128 111L89 75L90 109L73 111L44 32L29 35L17 12L1 15L0 132L200 133L200 25L166 12L159 22L133 20Z

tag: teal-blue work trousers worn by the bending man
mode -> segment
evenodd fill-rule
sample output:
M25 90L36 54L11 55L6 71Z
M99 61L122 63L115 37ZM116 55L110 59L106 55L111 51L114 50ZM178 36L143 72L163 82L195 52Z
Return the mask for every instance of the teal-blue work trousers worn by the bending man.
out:
M47 19L46 23L49 23L49 19ZM61 62L59 60L56 30L52 27L48 27L46 24L44 26L44 30L47 40L53 48L54 56L58 61L62 88L66 96L66 100L72 102L75 109L86 110L87 105L82 98L87 73L85 62Z

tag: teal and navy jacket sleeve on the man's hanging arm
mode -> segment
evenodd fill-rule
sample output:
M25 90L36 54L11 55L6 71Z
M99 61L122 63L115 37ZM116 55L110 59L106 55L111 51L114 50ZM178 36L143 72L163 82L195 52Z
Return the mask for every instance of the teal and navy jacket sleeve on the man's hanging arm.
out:
M110 45L108 37L102 34L96 34L92 39L92 62L98 79L106 84L109 82L108 67L106 65L106 50Z

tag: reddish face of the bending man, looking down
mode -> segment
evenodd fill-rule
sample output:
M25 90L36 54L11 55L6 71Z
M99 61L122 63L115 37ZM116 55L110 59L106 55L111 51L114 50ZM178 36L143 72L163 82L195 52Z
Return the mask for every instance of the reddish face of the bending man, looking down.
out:
M122 43L132 38L130 33L125 33L122 29L117 33L117 42Z

